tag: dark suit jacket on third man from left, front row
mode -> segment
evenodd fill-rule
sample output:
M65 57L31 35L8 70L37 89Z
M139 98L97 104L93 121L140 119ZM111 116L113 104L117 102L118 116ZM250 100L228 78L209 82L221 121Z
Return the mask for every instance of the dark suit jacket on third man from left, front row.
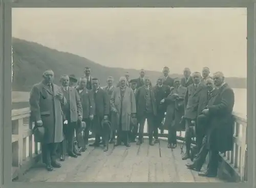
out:
M79 93L79 89L77 89L77 92ZM95 102L92 91L84 88L79 95L82 104L82 118L86 119L90 115L95 115Z

